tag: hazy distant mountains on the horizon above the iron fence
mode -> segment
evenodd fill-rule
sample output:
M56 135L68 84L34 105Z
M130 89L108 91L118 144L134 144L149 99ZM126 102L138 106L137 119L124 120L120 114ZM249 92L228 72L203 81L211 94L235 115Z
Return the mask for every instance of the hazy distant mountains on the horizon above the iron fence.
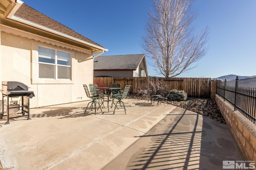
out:
M226 76L220 76L218 78L213 78L213 80L221 79L222 81L225 81L225 79L226 79L227 81L233 81L233 80L236 80L236 76L238 76L238 75L229 74ZM256 88L256 76L238 76L238 78L239 78L238 86Z

